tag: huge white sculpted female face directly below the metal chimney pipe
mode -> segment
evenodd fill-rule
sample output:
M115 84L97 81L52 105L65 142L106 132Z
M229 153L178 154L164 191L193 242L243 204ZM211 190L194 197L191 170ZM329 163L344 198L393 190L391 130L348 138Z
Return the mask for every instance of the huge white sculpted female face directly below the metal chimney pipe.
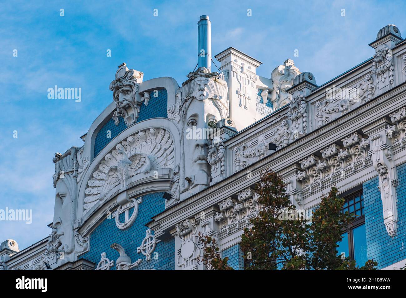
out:
M183 127L185 176L193 178L191 186L209 184L210 166L207 162L207 155L210 140L207 139L206 132L210 122L216 122L220 119L220 111L212 99L203 101L191 99Z

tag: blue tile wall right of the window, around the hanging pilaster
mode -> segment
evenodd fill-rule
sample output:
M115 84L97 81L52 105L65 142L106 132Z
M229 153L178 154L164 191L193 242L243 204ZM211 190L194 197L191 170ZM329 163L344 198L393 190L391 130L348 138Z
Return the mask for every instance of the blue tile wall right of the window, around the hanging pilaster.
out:
M363 184L368 259L382 269L406 258L406 163L397 167L397 232L390 237L383 223L378 176Z

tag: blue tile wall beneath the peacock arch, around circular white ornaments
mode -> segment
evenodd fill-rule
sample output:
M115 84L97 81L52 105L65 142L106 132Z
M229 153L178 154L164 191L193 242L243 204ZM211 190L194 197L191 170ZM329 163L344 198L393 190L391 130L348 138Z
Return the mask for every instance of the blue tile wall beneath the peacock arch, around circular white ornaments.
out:
M175 238L170 236L156 244L155 250L151 254L151 260L146 261L145 255L137 253L137 247L141 245L145 238L146 223L151 221L151 217L164 211L165 199L164 193L150 193L143 196L143 202L139 204L137 218L131 227L125 230L117 228L115 218L104 219L90 234L89 251L80 256L94 262L97 266L101 259L102 252L106 252L108 259L114 260L119 257L119 253L110 248L114 242L121 244L125 253L131 258L131 262L142 259L141 264L132 270L174 270L175 269ZM130 213L131 216L131 213ZM120 221L123 222L124 213L120 214ZM152 233L154 234L154 233ZM158 253L158 255L156 253ZM155 254L154 254L155 253ZM157 259L154 259L154 256ZM115 270L114 267L111 270Z

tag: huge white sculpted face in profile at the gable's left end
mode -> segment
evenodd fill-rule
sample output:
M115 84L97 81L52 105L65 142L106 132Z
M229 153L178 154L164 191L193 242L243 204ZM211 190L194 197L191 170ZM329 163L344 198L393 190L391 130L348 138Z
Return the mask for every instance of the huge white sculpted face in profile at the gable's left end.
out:
M60 243L59 250L67 254L73 252L73 223L71 220L72 197L63 178L56 182L54 210L54 228L57 229L56 239Z

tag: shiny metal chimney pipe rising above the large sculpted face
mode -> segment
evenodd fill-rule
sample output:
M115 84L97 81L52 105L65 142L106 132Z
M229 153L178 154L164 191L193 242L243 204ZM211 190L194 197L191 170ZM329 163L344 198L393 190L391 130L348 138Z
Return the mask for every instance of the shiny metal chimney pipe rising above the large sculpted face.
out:
M197 66L212 71L212 23L208 15L201 15L197 22Z

